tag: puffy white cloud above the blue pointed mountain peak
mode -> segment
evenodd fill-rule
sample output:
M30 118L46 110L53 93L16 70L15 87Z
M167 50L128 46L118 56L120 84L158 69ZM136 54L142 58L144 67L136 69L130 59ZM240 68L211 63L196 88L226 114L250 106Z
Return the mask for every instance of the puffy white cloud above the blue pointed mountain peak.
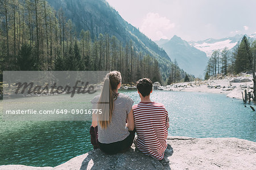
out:
M175 28L175 23L158 13L149 12L144 18L141 31L152 40L167 39L168 32Z

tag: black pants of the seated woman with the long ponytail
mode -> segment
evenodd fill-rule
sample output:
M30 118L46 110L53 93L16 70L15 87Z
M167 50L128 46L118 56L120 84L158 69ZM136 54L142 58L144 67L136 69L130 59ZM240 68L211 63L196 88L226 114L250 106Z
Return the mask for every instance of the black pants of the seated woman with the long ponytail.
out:
M133 131L129 131L130 135L123 139L123 141L118 141L114 143L100 143L98 142L98 126L93 128L93 126L90 126L90 142L93 145L93 149L100 148L102 152L105 152L106 154L117 154L118 152L126 151L133 145L133 140L135 136L135 129Z

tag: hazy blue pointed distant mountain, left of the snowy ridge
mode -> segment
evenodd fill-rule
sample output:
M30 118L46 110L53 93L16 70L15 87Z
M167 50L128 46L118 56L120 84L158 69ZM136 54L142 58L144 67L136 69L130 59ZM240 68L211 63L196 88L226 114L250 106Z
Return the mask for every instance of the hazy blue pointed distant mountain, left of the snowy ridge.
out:
M176 35L171 40L161 39L155 42L167 52L172 61L177 60L181 69L196 77L204 75L204 69L208 62L204 52L189 45L187 41Z

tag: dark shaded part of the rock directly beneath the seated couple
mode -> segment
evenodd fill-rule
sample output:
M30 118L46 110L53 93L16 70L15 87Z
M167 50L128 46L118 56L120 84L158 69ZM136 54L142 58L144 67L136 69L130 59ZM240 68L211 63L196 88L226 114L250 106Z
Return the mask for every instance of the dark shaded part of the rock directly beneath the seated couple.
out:
M80 170L83 169L171 169L168 160L173 153L167 149L164 159L158 161L132 146L128 151L115 155L106 155L99 149L88 152Z

